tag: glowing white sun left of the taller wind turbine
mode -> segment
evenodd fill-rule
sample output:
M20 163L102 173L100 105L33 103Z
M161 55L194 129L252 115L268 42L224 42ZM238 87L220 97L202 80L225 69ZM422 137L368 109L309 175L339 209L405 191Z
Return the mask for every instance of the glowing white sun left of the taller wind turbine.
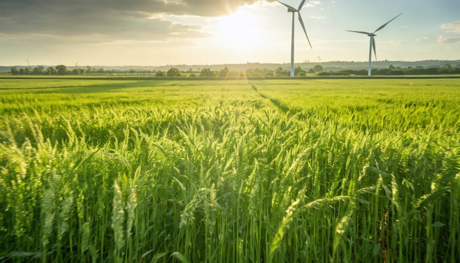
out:
M262 38L259 20L254 13L245 9L219 17L216 29L219 45L232 50L254 49L260 45Z

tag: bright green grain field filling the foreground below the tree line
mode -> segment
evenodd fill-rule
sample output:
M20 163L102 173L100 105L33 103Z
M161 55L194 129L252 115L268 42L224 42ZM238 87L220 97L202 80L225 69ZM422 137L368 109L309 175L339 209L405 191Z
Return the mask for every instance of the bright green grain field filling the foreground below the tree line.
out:
M458 262L459 79L0 79L0 261Z

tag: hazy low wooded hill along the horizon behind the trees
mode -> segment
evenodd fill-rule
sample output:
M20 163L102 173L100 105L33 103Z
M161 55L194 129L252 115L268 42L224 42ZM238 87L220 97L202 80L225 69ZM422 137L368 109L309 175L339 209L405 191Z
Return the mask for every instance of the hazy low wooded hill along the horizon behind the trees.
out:
M295 63L295 65L300 65L302 69L308 70L313 68L315 65L321 65L325 71L339 71L339 70L367 70L367 65L369 62L355 62L355 61L327 61L327 62L303 62L303 63ZM436 68L442 67L446 64L452 65L452 67L460 67L460 60L423 60L423 61L373 61L372 68L373 69L387 69L389 65L393 65L394 67L401 67L401 68L416 68L416 67L424 67L424 68ZM26 68L24 65L17 65L14 66L17 69ZM37 65L31 65L30 68L35 68ZM50 65L42 65L44 69L50 67ZM54 67L54 66L52 66ZM162 66L135 66L135 65L123 65L123 66L102 66L96 65L91 66L91 68L103 68L106 71L167 71L170 68L177 68L180 71L188 71L192 69L192 71L200 71L201 69L211 68L211 70L221 70L227 67L229 70L232 71L246 71L249 69L267 69L267 70L275 70L279 67L289 70L290 63L244 63L244 64L216 64L216 65L162 65ZM0 66L0 72L9 72L12 67L5 67ZM86 68L78 67L78 68ZM75 67L67 67L69 70L75 69Z

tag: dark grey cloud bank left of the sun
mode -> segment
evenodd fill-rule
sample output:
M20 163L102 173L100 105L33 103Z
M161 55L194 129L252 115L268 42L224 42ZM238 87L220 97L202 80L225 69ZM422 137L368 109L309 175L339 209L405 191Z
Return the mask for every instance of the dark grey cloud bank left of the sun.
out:
M270 0L272 2L273 0ZM158 14L220 16L258 0L2 0L0 34L152 40L200 37L200 28L149 19Z

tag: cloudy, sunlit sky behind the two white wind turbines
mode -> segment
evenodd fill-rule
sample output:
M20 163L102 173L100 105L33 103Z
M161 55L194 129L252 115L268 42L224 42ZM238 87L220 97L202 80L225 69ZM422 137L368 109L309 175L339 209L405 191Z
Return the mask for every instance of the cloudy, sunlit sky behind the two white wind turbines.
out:
M284 0L298 7L301 0ZM460 0L306 1L295 62L460 59ZM292 14L273 0L0 0L0 65L288 63ZM373 60L375 57L373 56Z

